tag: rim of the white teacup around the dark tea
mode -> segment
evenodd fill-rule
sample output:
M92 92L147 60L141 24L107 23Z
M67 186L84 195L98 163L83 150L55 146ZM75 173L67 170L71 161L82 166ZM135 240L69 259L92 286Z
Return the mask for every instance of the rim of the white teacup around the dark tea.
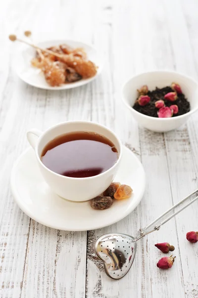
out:
M116 162L113 166L111 166L108 170L106 170L105 172L103 172L103 173L100 173L100 174L98 174L98 175L91 176L91 177L82 177L82 178L63 176L63 175L60 175L60 174L58 174L58 173L56 173L56 172L53 172L53 171L50 170L47 166L45 166L45 164L41 161L41 158L40 158L40 156L39 156L39 152L38 152L38 148L39 148L39 144L40 144L41 140L43 139L43 137L44 137L50 130L52 130L52 129L54 129L54 128L57 128L57 127L59 127L59 126L65 125L65 124L72 124L72 123L78 123L78 124L81 124L81 123L95 124L95 125L97 125L97 126L99 126L99 127L102 127L103 129L107 130L108 132L110 132L110 133L116 138L116 140L118 141L119 146L120 146L120 152L119 152L119 157L118 157L117 162ZM71 131L71 132L72 132L72 131ZM54 174L54 175L56 175L56 176L58 176L58 177L62 177L62 178L65 178L65 179L71 179L71 180L79 180L79 181L82 181L82 180L88 180L88 179L92 180L92 179L96 179L97 177L101 177L102 175L104 175L104 174L110 172L114 167L117 167L117 166L118 166L118 164L120 163L120 160L121 160L121 158L122 158L122 143L121 143L120 139L117 137L117 135L116 135L112 130L110 130L110 129L107 128L106 126L104 126L104 125L102 125L102 124L99 124L99 123L97 123L97 122L93 122L93 121L80 121L80 120L79 120L79 121L65 121L65 122L60 122L60 123L58 123L58 124L56 124L56 125L53 125L53 126L49 127L45 132L42 132L42 134L39 136L39 138L38 138L38 140L37 140L37 144L36 144L36 147L35 147L35 153L36 153L36 157L37 157L39 163L40 163L45 169L47 169L50 173L52 173L52 174Z

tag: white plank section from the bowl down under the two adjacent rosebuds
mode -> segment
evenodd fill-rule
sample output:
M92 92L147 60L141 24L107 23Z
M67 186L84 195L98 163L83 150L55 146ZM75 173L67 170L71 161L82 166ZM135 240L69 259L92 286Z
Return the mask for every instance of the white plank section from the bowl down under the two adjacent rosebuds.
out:
M172 206L172 196L163 134L156 134L143 129L140 140L142 162L148 178L145 204L142 211L144 215L143 226L145 226ZM156 267L157 261L164 254L157 250L154 244L161 242L169 242L176 247L173 253L177 256L177 260L170 271L159 270ZM149 280L152 297L173 297L175 295L176 297L185 297L178 245L174 220L162 226L158 232L149 234L148 240L144 239L144 266L147 278L144 280L145 297L149 293ZM177 284L177 288L174 287L175 284Z

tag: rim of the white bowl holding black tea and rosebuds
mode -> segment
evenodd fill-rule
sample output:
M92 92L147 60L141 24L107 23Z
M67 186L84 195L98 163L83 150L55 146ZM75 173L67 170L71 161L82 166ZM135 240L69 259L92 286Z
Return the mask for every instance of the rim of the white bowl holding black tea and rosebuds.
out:
M183 115L180 115L180 116L177 116L177 117L170 117L170 118L157 118L157 117L152 117L152 116L148 116L148 115L145 115L145 114L142 114L138 111L136 111L132 106L129 105L127 99L126 99L126 96L124 95L124 89L126 87L126 85L134 78L138 77L138 76L141 76L142 74L153 74L153 73L161 73L161 74L179 74L181 76L183 76L184 78L186 79L190 79L192 80L195 84L197 84L198 86L198 81L196 81L193 77L189 76L189 75L186 75L186 74L182 74L182 73L179 73L179 72L175 72L175 71L148 71L148 72L143 72L143 73L139 73L139 74L136 74L136 75L133 75L131 76L130 78L127 79L127 81L122 85L122 102L125 104L125 106L127 108L129 108L130 110L132 110L135 114L137 115L141 115L142 117L144 118L147 118L147 119L152 119L153 121L175 121L176 119L181 119L181 118L185 118L185 116L187 115L191 115L193 113L195 113L197 110L198 110L198 105L197 107L191 109L189 112L187 112L186 114L183 114Z

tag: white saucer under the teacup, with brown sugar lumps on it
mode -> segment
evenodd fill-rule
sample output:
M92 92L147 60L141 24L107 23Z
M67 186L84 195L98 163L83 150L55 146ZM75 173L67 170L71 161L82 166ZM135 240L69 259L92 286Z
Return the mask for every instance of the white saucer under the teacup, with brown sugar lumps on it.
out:
M11 172L11 190L20 209L35 221L61 230L83 231L114 224L130 214L145 191L145 171L133 152L123 147L123 157L114 181L133 189L131 198L114 200L106 210L94 210L90 202L71 202L54 194L44 181L34 150L23 152Z

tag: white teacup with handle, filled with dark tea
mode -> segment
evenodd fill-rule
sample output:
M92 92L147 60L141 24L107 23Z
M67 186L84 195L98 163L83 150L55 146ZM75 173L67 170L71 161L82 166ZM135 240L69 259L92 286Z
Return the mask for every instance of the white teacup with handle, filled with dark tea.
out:
M117 162L107 171L85 178L66 177L49 170L41 161L44 147L60 135L77 131L95 132L110 140L118 150L119 157ZM49 187L60 197L71 201L88 201L100 195L113 181L122 157L122 144L119 138L105 126L94 122L63 122L49 128L44 133L32 129L27 132L27 139L35 150L40 170Z

